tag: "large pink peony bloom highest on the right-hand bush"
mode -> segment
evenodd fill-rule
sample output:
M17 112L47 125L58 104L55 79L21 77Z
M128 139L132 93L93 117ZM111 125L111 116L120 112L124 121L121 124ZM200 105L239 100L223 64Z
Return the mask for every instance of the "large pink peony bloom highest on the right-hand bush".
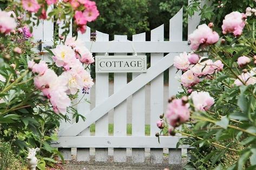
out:
M221 26L222 33L233 33L234 36L240 36L245 27L245 17L244 13L237 11L226 15Z

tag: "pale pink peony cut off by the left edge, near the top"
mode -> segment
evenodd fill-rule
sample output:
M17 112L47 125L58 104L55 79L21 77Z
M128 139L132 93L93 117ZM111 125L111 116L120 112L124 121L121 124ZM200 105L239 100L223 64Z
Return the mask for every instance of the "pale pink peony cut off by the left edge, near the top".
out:
M8 15L8 12L0 10L0 33L7 34L16 28L15 19Z

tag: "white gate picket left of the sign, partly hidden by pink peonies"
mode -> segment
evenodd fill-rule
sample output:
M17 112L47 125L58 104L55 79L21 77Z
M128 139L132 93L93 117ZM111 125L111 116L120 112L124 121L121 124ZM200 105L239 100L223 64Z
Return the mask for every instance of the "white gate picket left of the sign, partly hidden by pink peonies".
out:
M90 41L90 28L88 26L87 26L86 33L84 34L78 33L78 39L82 40L83 42ZM88 69L88 72L89 72L89 69ZM89 91L89 94L83 94L82 90L80 90L80 92L78 93L78 100L80 100L82 97L83 99L81 100L81 103L77 105L77 112L82 114L84 117L86 117L86 114L90 112L90 103L84 100L85 99L90 100L90 91ZM80 119L79 121L83 121L83 120ZM90 128L86 128L86 130L83 130L78 136L89 136L89 135L90 135ZM90 148L77 148L76 160L89 161Z

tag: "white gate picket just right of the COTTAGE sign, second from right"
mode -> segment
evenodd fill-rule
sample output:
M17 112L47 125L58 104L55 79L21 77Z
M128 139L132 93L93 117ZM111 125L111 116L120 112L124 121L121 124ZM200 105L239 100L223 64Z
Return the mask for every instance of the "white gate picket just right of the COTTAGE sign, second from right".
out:
M151 31L151 41L163 41L164 25L161 25ZM163 58L163 53L152 53L150 65L154 65ZM163 73L157 76L150 83L150 135L155 136L159 132L156 126L156 121L159 120L159 115L163 113ZM150 149L151 162L153 164L160 164L163 161L163 149Z

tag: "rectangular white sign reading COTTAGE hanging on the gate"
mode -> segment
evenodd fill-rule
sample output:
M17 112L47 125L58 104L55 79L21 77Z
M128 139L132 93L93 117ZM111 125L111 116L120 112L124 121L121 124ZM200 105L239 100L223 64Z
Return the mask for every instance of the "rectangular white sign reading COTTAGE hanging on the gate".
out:
M95 72L147 72L147 56L95 56Z

